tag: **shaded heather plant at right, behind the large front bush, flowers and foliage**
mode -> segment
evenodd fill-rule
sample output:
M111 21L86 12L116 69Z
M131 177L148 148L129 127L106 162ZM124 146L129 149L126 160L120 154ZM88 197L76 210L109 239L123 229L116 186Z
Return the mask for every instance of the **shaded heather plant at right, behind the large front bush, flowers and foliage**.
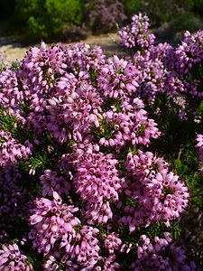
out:
M139 16L148 26L149 19L142 14ZM145 31L148 32L147 27ZM203 130L202 31L187 31L183 41L174 48L168 43L136 46L140 33L134 21L118 34L126 48L130 47L129 41L134 41L127 57L139 70L140 86L134 96L143 98L147 111L162 132L160 139L151 146L152 150L167 157L175 172L189 184L194 196L192 201L202 206L202 177L198 172L195 147L197 134Z

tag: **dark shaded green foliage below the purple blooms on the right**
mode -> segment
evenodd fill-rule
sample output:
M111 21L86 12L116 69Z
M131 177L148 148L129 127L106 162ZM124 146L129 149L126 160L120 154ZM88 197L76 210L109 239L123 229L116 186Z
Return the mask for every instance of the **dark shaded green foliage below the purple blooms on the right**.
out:
M198 77L199 78L199 77ZM193 78L194 79L194 78ZM160 112L154 113L159 107ZM193 111L202 116L203 102L199 98L187 97L187 117L179 117L181 107L165 94L157 96L155 103L149 105L148 112L161 129L161 138L153 141L152 152L164 157L171 164L171 170L187 183L191 194L191 202L203 207L203 182L198 171L197 133L201 133L201 123L194 122Z

